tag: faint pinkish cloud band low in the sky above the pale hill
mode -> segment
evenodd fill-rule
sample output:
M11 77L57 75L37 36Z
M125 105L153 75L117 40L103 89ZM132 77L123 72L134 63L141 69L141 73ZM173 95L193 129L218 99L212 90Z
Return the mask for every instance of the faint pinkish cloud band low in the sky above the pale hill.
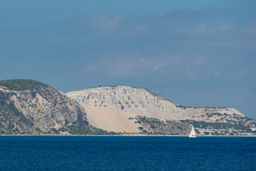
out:
M138 53L122 54L108 59L99 59L84 66L84 73L109 78L137 78L164 76L198 78L205 74L217 77L213 63L205 56L190 57L143 57Z

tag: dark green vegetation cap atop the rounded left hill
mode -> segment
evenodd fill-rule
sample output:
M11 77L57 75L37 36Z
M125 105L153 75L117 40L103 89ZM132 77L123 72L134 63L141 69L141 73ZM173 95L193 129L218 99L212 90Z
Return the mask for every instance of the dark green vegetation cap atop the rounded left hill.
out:
M1 80L0 85L15 91L34 91L37 90L38 87L49 87L47 84L29 79Z

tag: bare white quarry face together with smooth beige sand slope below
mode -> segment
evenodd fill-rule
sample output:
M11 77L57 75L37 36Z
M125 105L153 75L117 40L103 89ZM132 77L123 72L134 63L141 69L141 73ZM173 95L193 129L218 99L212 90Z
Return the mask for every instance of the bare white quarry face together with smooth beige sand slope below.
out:
M70 91L66 95L84 108L90 124L107 131L138 132L138 124L129 119L137 115L162 121L193 119L221 123L227 123L233 114L244 117L235 108L180 107L162 96L150 93L147 89L124 85ZM207 114L212 113L225 114L225 116L208 117Z

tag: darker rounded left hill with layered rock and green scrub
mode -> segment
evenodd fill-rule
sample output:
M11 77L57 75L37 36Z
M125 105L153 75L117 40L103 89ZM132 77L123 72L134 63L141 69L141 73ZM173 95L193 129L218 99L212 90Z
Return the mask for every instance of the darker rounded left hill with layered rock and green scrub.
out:
M1 134L69 135L94 129L76 101L35 80L0 81L0 114Z

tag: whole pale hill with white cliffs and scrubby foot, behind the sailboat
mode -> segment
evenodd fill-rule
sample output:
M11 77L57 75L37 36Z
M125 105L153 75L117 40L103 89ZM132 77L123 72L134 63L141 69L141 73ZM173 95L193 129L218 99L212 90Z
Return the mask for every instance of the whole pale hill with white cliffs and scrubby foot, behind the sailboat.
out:
M123 129L127 133L187 135L192 124L198 135L256 133L256 121L235 108L182 107L143 88L95 87L68 92L67 96L93 116L89 119L93 126L108 131L114 131L111 126L122 115L122 123L137 128L132 131ZM111 119L103 119L107 115Z

